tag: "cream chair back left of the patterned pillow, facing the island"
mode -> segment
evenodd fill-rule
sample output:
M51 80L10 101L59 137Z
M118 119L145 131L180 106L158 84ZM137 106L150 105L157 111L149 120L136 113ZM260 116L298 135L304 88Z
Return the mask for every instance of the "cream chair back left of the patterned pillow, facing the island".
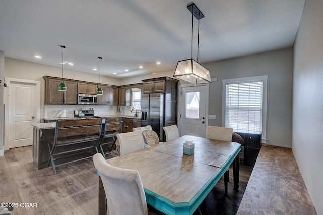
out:
M127 133L117 134L120 145L120 155L128 154L134 151L144 149L144 140L142 132L132 131Z

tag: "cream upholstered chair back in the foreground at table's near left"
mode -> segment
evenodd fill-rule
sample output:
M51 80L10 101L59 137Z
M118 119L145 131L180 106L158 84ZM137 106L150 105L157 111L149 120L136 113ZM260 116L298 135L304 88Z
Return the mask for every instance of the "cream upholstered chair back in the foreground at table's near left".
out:
M146 196L137 170L114 167L100 153L93 156L93 162L102 179L107 214L148 214Z

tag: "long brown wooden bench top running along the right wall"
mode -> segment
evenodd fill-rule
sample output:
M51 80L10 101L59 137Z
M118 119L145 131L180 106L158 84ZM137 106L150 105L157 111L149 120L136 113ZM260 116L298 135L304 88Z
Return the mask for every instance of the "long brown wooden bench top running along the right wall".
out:
M262 145L237 214L316 214L290 148Z

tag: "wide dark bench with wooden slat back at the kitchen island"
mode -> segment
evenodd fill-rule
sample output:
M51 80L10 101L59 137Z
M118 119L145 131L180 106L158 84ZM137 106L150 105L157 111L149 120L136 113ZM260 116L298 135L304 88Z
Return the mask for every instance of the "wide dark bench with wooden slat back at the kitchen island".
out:
M87 118L76 120L57 120L55 126L54 139L48 141L50 163L54 174L56 167L76 162L78 160L92 157L98 153L97 142L100 138L102 118ZM87 152L87 156L76 156L77 154ZM71 157L71 159L67 159ZM63 162L56 163L56 160Z

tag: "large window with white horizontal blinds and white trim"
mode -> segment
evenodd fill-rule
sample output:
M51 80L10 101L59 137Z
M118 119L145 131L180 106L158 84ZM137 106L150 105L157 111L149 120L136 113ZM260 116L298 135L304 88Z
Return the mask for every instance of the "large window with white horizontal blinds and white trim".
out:
M266 133L267 76L223 80L224 126Z

